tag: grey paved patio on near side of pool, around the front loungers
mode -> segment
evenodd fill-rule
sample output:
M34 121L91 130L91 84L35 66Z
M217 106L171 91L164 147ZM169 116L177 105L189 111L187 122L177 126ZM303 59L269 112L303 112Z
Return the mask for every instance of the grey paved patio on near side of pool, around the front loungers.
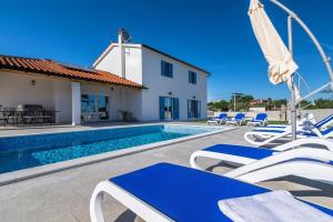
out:
M1 221L90 221L89 200L99 181L144 168L158 162L170 162L189 167L190 154L216 143L246 144L243 139L249 128L219 133L196 140L185 141L110 161L71 169L10 185L0 186ZM230 168L216 162L201 161L216 173ZM333 209L333 185L284 178L261 183L271 189L284 189L306 200ZM216 188L219 189L219 188ZM120 203L105 196L104 215L107 221L133 221L134 215Z

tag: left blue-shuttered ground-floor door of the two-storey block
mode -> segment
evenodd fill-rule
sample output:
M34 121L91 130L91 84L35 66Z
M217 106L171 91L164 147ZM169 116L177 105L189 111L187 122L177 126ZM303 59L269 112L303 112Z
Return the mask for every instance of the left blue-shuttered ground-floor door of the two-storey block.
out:
M160 97L160 120L179 119L179 99Z

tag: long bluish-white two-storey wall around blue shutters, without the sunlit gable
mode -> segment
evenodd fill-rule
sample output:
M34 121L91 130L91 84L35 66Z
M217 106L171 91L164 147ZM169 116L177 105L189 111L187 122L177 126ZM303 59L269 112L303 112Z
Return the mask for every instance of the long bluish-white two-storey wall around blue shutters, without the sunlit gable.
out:
M173 64L173 78L161 75L161 60ZM159 120L159 97L179 98L180 120L188 119L188 100L201 101L201 118L206 118L206 74L178 62L169 57L143 48L142 50L143 85L142 119ZM196 84L189 82L189 71L196 72ZM172 95L169 95L172 92Z

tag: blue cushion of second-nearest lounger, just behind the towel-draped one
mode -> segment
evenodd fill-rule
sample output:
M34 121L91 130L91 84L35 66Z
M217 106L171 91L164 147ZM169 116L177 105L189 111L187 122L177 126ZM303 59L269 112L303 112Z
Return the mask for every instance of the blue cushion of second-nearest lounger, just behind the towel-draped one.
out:
M243 158L251 158L254 160L261 160L263 158L268 158L272 155L274 152L270 149L264 148L253 148L253 147L245 147L245 145L233 145L233 144L216 144L210 148L203 149L204 151L215 152L215 153L223 153L223 154L231 154L238 155Z

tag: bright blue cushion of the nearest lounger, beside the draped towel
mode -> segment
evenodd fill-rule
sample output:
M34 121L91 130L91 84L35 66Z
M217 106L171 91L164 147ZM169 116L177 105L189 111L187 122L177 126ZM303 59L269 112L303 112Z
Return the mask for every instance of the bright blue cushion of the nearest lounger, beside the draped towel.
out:
M231 221L220 211L218 201L269 192L245 182L169 163L151 165L110 181L180 222ZM333 210L311 205L333 215Z

